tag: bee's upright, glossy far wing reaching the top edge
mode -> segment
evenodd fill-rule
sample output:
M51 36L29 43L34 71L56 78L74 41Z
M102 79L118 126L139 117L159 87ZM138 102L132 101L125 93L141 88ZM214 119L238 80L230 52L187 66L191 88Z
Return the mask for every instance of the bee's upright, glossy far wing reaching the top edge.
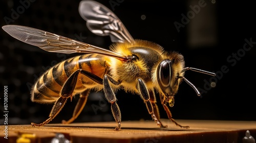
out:
M120 19L108 8L95 1L81 1L79 13L94 34L109 35L112 42L134 42Z

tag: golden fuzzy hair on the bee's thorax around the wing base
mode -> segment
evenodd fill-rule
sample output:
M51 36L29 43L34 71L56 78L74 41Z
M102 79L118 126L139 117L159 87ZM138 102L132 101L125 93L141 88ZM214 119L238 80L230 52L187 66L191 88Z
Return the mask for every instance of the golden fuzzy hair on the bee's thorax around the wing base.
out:
M155 51L158 54L163 53L163 49L160 45L144 40L135 40L134 43L123 42L115 43L111 45L110 49L116 53L125 56L132 56L134 53L132 49L134 47L141 47L151 51ZM112 58L112 65L110 67L110 74L113 79L121 80L125 91L136 91L136 79L143 79L148 85L153 85L151 80L151 69L148 68L147 59L136 55L139 58L131 62L123 62L118 59ZM152 55L155 56L155 55Z

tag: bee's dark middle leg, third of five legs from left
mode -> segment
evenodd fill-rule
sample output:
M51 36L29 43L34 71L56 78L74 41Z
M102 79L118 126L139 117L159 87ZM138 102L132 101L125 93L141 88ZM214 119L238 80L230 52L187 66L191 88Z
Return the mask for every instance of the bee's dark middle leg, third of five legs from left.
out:
M116 103L116 95L112 87L110 86L109 81L115 85L119 85L121 82L115 81L109 75L105 75L103 78L103 90L105 93L106 100L108 100L109 103L111 103L111 111L117 123L117 127L115 128L115 130L118 131L121 129L121 112Z

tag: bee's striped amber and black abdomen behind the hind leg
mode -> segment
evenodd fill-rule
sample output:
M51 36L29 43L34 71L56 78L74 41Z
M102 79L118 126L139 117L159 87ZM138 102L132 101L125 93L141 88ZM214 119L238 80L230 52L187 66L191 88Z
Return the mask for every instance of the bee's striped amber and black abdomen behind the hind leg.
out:
M60 96L60 90L66 80L77 69L83 69L103 78L108 72L109 58L98 54L77 56L58 63L44 73L33 86L31 100L38 103L55 102ZM99 85L88 77L79 74L73 96L86 88L101 89Z

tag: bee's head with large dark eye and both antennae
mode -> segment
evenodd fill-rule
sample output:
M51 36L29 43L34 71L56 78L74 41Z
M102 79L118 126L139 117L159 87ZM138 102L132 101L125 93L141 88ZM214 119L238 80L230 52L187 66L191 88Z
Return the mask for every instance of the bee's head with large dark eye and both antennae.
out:
M184 67L184 59L183 56L178 53L172 53L167 58L164 58L156 68L156 79L158 86L164 96L164 99L169 103L170 107L174 106L174 95L177 93L179 84L182 80L185 80L194 90L197 92L198 96L200 96L200 92L198 89L189 82L185 77L184 73L186 70L194 70L203 74L208 74L211 76L215 76L214 73L210 73L209 71L204 71L197 68Z

